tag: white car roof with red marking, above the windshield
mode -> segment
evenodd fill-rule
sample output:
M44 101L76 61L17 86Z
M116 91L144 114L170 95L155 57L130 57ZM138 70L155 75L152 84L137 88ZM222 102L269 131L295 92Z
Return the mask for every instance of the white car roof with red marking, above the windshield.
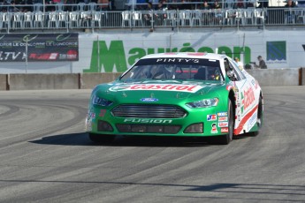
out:
M202 59L211 59L211 60L221 60L225 58L225 55L214 54L214 53L203 53L203 52L170 52L170 53L150 54L147 56L143 56L141 59L160 58L160 57L202 58Z

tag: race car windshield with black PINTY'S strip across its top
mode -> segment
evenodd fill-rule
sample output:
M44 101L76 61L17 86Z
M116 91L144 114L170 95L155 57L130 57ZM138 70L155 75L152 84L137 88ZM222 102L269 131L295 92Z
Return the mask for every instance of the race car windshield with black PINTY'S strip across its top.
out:
M171 59L171 58L170 58ZM121 77L123 81L182 79L222 81L219 61L189 58L141 59Z

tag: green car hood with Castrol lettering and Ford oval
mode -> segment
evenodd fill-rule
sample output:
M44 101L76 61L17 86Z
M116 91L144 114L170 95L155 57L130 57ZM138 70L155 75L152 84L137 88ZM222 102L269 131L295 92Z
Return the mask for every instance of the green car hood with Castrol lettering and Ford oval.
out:
M95 87L95 94L118 103L162 102L171 104L173 100L187 101L194 98L216 96L225 83L198 81L154 80L133 83L114 82ZM217 91L216 91L217 90Z

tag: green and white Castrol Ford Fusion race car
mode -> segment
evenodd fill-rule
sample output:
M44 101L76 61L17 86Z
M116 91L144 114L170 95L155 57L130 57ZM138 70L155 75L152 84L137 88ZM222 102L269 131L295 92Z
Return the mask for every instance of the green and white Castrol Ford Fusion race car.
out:
M256 79L232 58L209 53L142 57L117 80L95 86L86 119L94 142L124 135L209 137L228 144L262 124Z

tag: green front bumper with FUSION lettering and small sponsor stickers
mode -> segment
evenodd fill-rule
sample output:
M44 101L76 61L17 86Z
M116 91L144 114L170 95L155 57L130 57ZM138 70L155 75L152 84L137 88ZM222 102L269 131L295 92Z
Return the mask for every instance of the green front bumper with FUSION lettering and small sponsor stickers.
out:
M86 119L87 132L113 135L204 137L228 132L226 109L189 109L185 117L115 117L111 109L92 106Z

